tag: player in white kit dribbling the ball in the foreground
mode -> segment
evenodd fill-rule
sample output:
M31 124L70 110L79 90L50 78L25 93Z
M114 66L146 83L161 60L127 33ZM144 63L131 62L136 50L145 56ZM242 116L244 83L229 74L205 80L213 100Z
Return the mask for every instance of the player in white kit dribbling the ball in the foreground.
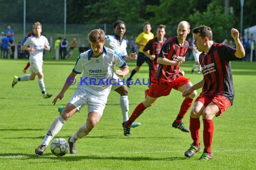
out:
M53 104L55 105L58 99L61 100L64 97L64 93L71 86L77 74L84 72L79 86L65 106L62 114L54 119L40 146L35 149L36 154L42 155L50 140L61 130L63 124L81 107L88 105L87 122L68 139L70 153L76 154L76 140L87 136L102 117L107 97L111 90L110 80L113 78L114 73L120 77L129 74L129 68L122 57L114 50L103 46L105 43L103 30L92 30L88 34L88 40L92 49L79 55L74 69L66 79L61 92L54 98ZM115 64L121 70L114 71ZM70 81L70 79L72 80Z

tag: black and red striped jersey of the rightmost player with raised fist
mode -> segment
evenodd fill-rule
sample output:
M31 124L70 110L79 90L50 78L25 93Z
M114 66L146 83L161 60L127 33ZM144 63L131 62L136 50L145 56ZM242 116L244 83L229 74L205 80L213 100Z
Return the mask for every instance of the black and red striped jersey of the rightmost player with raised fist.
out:
M207 54L199 55L204 85L202 93L225 96L233 103L234 85L231 73L232 60L238 60L236 49L220 43L213 43Z

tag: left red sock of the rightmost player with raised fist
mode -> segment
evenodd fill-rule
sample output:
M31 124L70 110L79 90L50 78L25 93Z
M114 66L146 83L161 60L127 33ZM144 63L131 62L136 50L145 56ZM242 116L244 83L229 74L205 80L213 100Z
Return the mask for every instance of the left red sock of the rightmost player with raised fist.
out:
M190 134L195 146L199 147L200 119L190 117Z

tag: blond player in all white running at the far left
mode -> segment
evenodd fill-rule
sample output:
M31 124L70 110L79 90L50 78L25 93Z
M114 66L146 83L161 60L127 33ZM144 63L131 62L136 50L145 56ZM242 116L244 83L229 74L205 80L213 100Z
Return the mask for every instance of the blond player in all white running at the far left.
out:
M40 22L35 22L33 25L33 33L24 44L22 44L22 50L30 51L29 63L31 65L31 74L25 76L14 76L12 87L18 83L18 81L29 81L35 80L38 76L38 84L43 94L43 98L50 98L52 94L46 93L44 86L44 74L43 74L43 51L44 49L49 51L51 49L49 42L46 37L41 35L42 25ZM29 47L27 47L29 46Z

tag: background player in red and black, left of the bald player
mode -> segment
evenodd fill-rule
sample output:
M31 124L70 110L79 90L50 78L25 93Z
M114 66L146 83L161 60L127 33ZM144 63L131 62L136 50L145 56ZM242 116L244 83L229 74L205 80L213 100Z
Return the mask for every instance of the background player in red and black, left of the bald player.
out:
M146 46L143 48L144 54L149 58L148 65L149 65L149 87L151 85L151 78L154 77L159 64L157 63L157 59L163 46L163 43L166 41L167 38L164 37L165 35L165 25L159 25L156 30L156 37L150 39ZM148 52L149 51L149 52ZM145 98L147 97L149 89L145 90Z

